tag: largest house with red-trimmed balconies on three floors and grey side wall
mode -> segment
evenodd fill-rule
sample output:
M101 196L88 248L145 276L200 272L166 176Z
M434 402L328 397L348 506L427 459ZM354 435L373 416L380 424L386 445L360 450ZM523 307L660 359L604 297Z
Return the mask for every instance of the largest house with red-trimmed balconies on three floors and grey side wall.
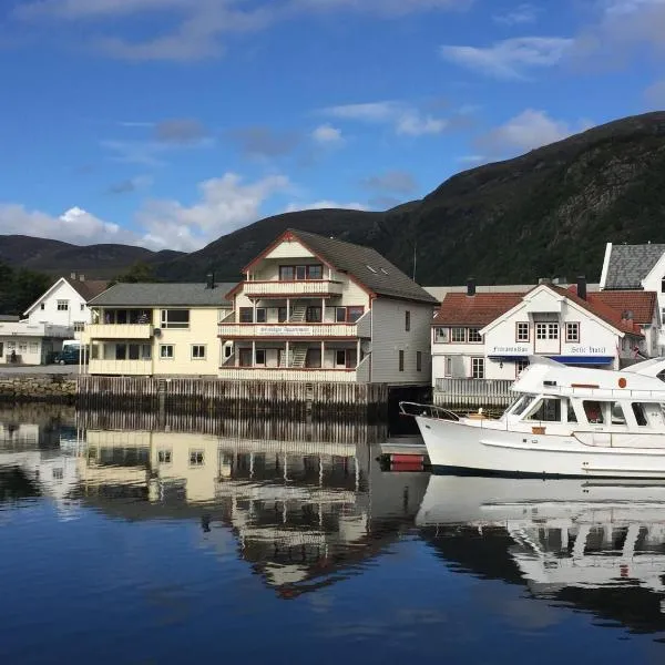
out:
M375 249L288 229L243 273L219 377L429 385L437 300Z

